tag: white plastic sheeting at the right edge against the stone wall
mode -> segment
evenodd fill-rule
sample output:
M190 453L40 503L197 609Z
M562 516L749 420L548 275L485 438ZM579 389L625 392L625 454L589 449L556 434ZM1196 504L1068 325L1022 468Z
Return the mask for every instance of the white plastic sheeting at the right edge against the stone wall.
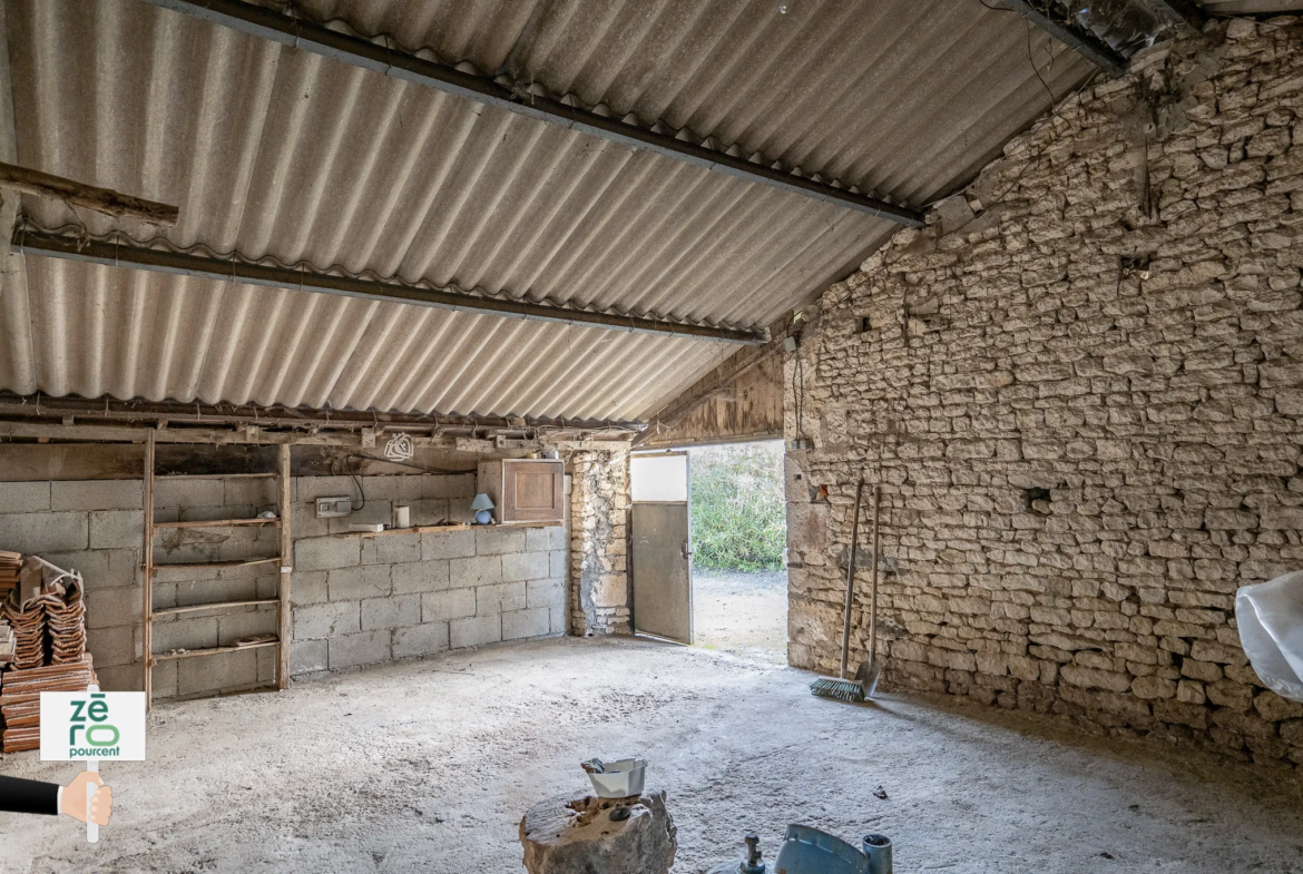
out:
M1303 701L1303 571L1235 593L1239 642L1267 688Z

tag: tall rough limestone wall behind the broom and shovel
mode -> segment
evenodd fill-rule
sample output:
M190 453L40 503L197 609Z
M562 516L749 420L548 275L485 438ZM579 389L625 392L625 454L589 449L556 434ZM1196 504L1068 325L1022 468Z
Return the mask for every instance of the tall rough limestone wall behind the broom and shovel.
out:
M1303 763L1303 705L1234 621L1238 586L1303 567L1300 38L1149 49L812 307L792 663L835 667L863 470L891 685Z

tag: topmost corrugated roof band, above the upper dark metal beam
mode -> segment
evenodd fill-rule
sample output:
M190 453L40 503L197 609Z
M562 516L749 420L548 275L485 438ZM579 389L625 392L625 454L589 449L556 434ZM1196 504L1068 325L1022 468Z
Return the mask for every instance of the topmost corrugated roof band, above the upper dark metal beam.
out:
M1048 108L1029 55L1059 96L1095 72L980 0L297 0L293 8L907 204L967 181Z

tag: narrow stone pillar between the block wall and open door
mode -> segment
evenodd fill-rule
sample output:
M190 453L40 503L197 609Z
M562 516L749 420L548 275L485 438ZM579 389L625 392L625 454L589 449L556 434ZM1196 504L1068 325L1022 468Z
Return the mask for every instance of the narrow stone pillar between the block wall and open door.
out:
M629 453L571 458L571 633L628 634Z

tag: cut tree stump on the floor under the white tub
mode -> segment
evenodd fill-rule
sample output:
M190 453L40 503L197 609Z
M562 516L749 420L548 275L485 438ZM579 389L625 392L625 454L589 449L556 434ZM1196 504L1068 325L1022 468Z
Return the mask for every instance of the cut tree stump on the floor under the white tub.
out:
M665 791L629 798L558 796L520 821L529 874L667 874L679 849L676 832Z

